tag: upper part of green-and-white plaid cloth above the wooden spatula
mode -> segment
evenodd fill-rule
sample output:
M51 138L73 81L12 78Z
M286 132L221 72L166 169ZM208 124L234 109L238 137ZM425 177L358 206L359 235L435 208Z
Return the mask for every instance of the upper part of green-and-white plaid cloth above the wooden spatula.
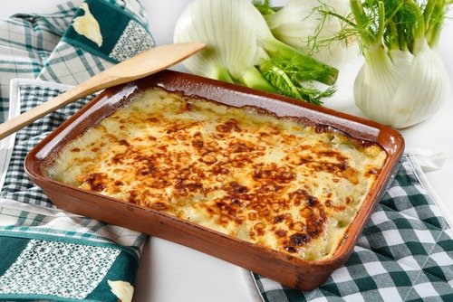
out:
M76 85L153 46L138 0L73 0L49 13L0 21L0 122L11 79Z

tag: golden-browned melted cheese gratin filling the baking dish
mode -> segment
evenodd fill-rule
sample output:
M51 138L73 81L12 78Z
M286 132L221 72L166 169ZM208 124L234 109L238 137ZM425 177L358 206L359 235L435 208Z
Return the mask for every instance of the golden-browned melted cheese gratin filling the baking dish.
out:
M324 127L145 90L67 146L49 175L305 260L341 243L385 162Z

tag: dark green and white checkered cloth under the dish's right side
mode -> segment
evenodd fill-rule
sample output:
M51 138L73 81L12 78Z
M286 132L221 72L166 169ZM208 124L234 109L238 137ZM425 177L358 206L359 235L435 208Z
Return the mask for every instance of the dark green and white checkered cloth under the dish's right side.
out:
M408 152L352 256L321 287L304 292L255 273L246 278L266 302L453 301L453 230L438 198Z

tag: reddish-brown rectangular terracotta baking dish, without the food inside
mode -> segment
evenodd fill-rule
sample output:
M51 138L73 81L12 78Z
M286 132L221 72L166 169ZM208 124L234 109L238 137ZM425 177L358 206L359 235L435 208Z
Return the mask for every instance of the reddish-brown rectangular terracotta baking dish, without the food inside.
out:
M248 105L267 109L278 116L298 117L308 123L332 126L352 137L380 144L388 153L387 161L333 257L318 261L301 260L217 231L210 231L162 212L121 202L98 193L82 191L46 176L46 166L53 162L53 158L64 144L118 109L134 90L151 86L181 91L189 96L213 99L237 107ZM217 80L176 71L161 71L143 80L102 92L34 147L25 159L25 170L56 206L68 212L175 241L253 270L288 287L311 290L323 284L333 270L340 267L352 253L355 242L390 180L403 148L404 140L396 130L370 120Z

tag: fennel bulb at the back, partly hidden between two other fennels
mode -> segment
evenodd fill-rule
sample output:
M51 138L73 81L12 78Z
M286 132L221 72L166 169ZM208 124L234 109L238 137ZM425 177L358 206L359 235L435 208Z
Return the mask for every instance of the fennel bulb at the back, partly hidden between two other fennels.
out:
M340 68L352 54L358 53L358 44L353 35L343 30L347 24L340 18L322 14L323 10L317 9L320 5L332 7L335 14L351 14L348 2L343 0L289 0L275 13L271 9L263 13L276 39ZM340 32L346 35L339 37Z

